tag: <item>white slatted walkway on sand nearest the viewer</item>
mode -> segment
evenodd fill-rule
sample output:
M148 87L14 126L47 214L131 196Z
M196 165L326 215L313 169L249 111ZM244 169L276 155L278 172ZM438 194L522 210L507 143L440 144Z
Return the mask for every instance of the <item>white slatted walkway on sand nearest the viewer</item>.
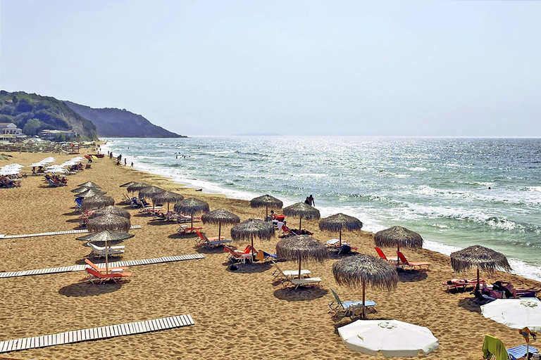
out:
M54 335L42 335L32 338L0 341L0 353L70 344L73 342L115 338L117 336L151 333L153 331L182 328L183 326L190 325L194 325L194 319L187 314L147 321L137 321L135 323L122 323L119 325L101 326L99 328L66 331L65 333Z

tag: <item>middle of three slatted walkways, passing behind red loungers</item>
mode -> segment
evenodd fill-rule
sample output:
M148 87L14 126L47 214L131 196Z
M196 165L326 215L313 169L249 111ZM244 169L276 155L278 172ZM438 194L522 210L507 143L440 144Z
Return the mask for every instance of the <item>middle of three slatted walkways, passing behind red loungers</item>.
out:
M189 254L189 255L177 255L177 256L168 256L168 257L154 257L152 259L141 259L141 260L128 260L125 262L111 262L109 266L138 266L138 265L147 265L147 264L160 264L161 262L182 262L184 260L194 260L194 259L204 259L203 254ZM100 262L96 264L99 268L105 269L105 263ZM30 276L30 275L44 275L44 274L58 274L58 273L68 273L71 271L84 271L88 266L84 265L72 265L72 266L61 266L61 267L51 267L48 269L36 269L36 270L23 270L23 271L7 271L0 273L0 278L15 278L17 276Z

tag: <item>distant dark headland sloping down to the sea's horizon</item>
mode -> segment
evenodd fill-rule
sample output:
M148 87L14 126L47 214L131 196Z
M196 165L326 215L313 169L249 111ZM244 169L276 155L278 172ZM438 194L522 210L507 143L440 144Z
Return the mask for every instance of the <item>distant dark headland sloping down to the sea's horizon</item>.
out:
M92 121L99 136L134 137L134 138L182 138L179 134L158 127L141 115L125 109L90 108L71 101L64 101L75 113Z

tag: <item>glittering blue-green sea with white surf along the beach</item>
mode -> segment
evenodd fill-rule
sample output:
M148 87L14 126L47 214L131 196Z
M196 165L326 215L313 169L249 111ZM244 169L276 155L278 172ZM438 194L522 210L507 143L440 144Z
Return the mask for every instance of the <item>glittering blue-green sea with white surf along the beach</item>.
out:
M128 166L230 198L313 195L322 217L405 226L425 248L502 252L541 281L541 139L362 136L106 138ZM128 179L127 179L128 180ZM325 239L322 239L325 240Z

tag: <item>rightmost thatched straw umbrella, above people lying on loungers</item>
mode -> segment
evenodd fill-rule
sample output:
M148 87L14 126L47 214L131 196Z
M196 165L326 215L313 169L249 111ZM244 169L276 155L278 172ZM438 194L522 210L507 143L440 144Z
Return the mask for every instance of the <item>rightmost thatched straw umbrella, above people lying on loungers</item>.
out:
M451 266L456 272L466 271L472 267L477 268L477 285L475 293L479 293L479 269L492 274L495 270L511 271L507 258L501 252L473 245L451 254Z

